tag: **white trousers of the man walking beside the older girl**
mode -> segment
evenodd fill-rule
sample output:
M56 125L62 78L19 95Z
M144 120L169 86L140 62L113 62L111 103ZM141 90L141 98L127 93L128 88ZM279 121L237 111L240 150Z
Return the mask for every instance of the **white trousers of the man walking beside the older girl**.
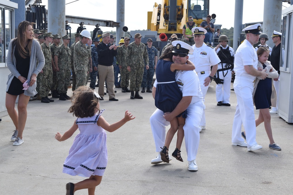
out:
M232 142L244 141L241 137L241 125L243 124L247 147L249 148L256 144L256 127L252 99L253 81L245 78L242 79L242 77L237 78L236 76L233 87L237 97L237 105L232 127Z

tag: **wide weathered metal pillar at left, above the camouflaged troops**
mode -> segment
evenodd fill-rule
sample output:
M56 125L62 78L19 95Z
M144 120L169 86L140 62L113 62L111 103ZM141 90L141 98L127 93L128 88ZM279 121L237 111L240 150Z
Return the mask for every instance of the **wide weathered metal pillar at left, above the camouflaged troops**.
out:
M48 32L65 35L65 0L48 1Z

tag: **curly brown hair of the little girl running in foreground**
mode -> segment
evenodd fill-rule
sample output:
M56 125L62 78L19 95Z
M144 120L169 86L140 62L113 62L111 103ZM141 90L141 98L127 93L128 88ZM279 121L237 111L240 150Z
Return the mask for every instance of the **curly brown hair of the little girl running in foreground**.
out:
M85 118L96 114L99 99L90 87L81 86L75 90L71 102L72 106L70 106L68 112L76 117ZM98 110L100 112L100 109Z

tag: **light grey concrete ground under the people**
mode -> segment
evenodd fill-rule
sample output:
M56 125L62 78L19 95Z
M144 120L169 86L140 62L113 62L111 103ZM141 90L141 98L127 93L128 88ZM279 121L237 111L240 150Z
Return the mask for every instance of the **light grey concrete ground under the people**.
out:
M151 165L151 159L157 155L149 124L149 117L156 109L151 93L141 94L142 100L131 100L130 93L116 89L118 102L108 101L106 95L100 107L106 109L103 116L109 123L123 118L125 110L136 118L107 133L108 165L96 194L293 194L292 124L277 114L271 115L274 139L282 151L269 149L263 124L257 127L257 141L263 149L248 152L244 147L232 146L236 96L231 91L231 107L217 106L215 85L211 83L206 96L207 125L200 133L196 172L187 170L184 141L181 149L184 162L173 158L169 164ZM69 100L30 101L24 143L20 146L13 146L10 141L14 130L10 117L2 117L0 194L65 194L66 183L85 179L62 173L78 131L63 142L54 138L56 132L63 134L75 120L67 112L70 105ZM176 137L170 146L171 153L175 144ZM87 190L75 194L87 194Z

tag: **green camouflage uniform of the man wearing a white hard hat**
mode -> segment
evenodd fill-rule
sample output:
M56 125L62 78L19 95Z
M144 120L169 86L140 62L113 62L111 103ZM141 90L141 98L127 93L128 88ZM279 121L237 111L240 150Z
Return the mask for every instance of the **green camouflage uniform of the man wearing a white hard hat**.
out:
M81 41L74 45L74 72L76 75L75 89L79 86L86 85L88 79L89 63L88 58L91 57L91 46L86 46Z

